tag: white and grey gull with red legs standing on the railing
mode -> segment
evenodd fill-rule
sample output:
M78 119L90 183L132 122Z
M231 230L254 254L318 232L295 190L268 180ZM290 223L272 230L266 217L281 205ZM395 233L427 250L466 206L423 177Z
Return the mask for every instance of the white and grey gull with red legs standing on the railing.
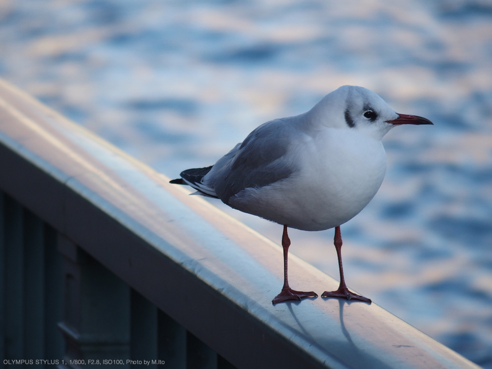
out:
M170 182L283 226L284 282L273 304L318 297L289 286L288 228L335 228L340 285L321 297L371 303L345 284L340 225L359 214L381 186L386 173L383 136L396 126L432 124L396 113L368 89L342 86L306 113L262 124L213 166L185 170Z

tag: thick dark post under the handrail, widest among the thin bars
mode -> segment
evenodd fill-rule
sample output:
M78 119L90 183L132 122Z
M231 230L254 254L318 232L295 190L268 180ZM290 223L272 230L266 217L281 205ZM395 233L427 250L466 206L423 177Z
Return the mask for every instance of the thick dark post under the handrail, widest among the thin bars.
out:
M67 343L59 367L99 363L108 369L128 368L130 288L61 235L58 250L64 255L65 296L64 321L58 326Z

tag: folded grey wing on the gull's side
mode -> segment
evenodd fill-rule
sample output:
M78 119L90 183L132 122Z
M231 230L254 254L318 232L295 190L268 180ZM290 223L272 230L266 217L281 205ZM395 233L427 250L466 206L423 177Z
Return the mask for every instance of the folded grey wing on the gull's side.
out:
M260 188L287 178L296 170L288 158L294 129L284 119L267 122L219 159L204 178L226 204L247 188Z

